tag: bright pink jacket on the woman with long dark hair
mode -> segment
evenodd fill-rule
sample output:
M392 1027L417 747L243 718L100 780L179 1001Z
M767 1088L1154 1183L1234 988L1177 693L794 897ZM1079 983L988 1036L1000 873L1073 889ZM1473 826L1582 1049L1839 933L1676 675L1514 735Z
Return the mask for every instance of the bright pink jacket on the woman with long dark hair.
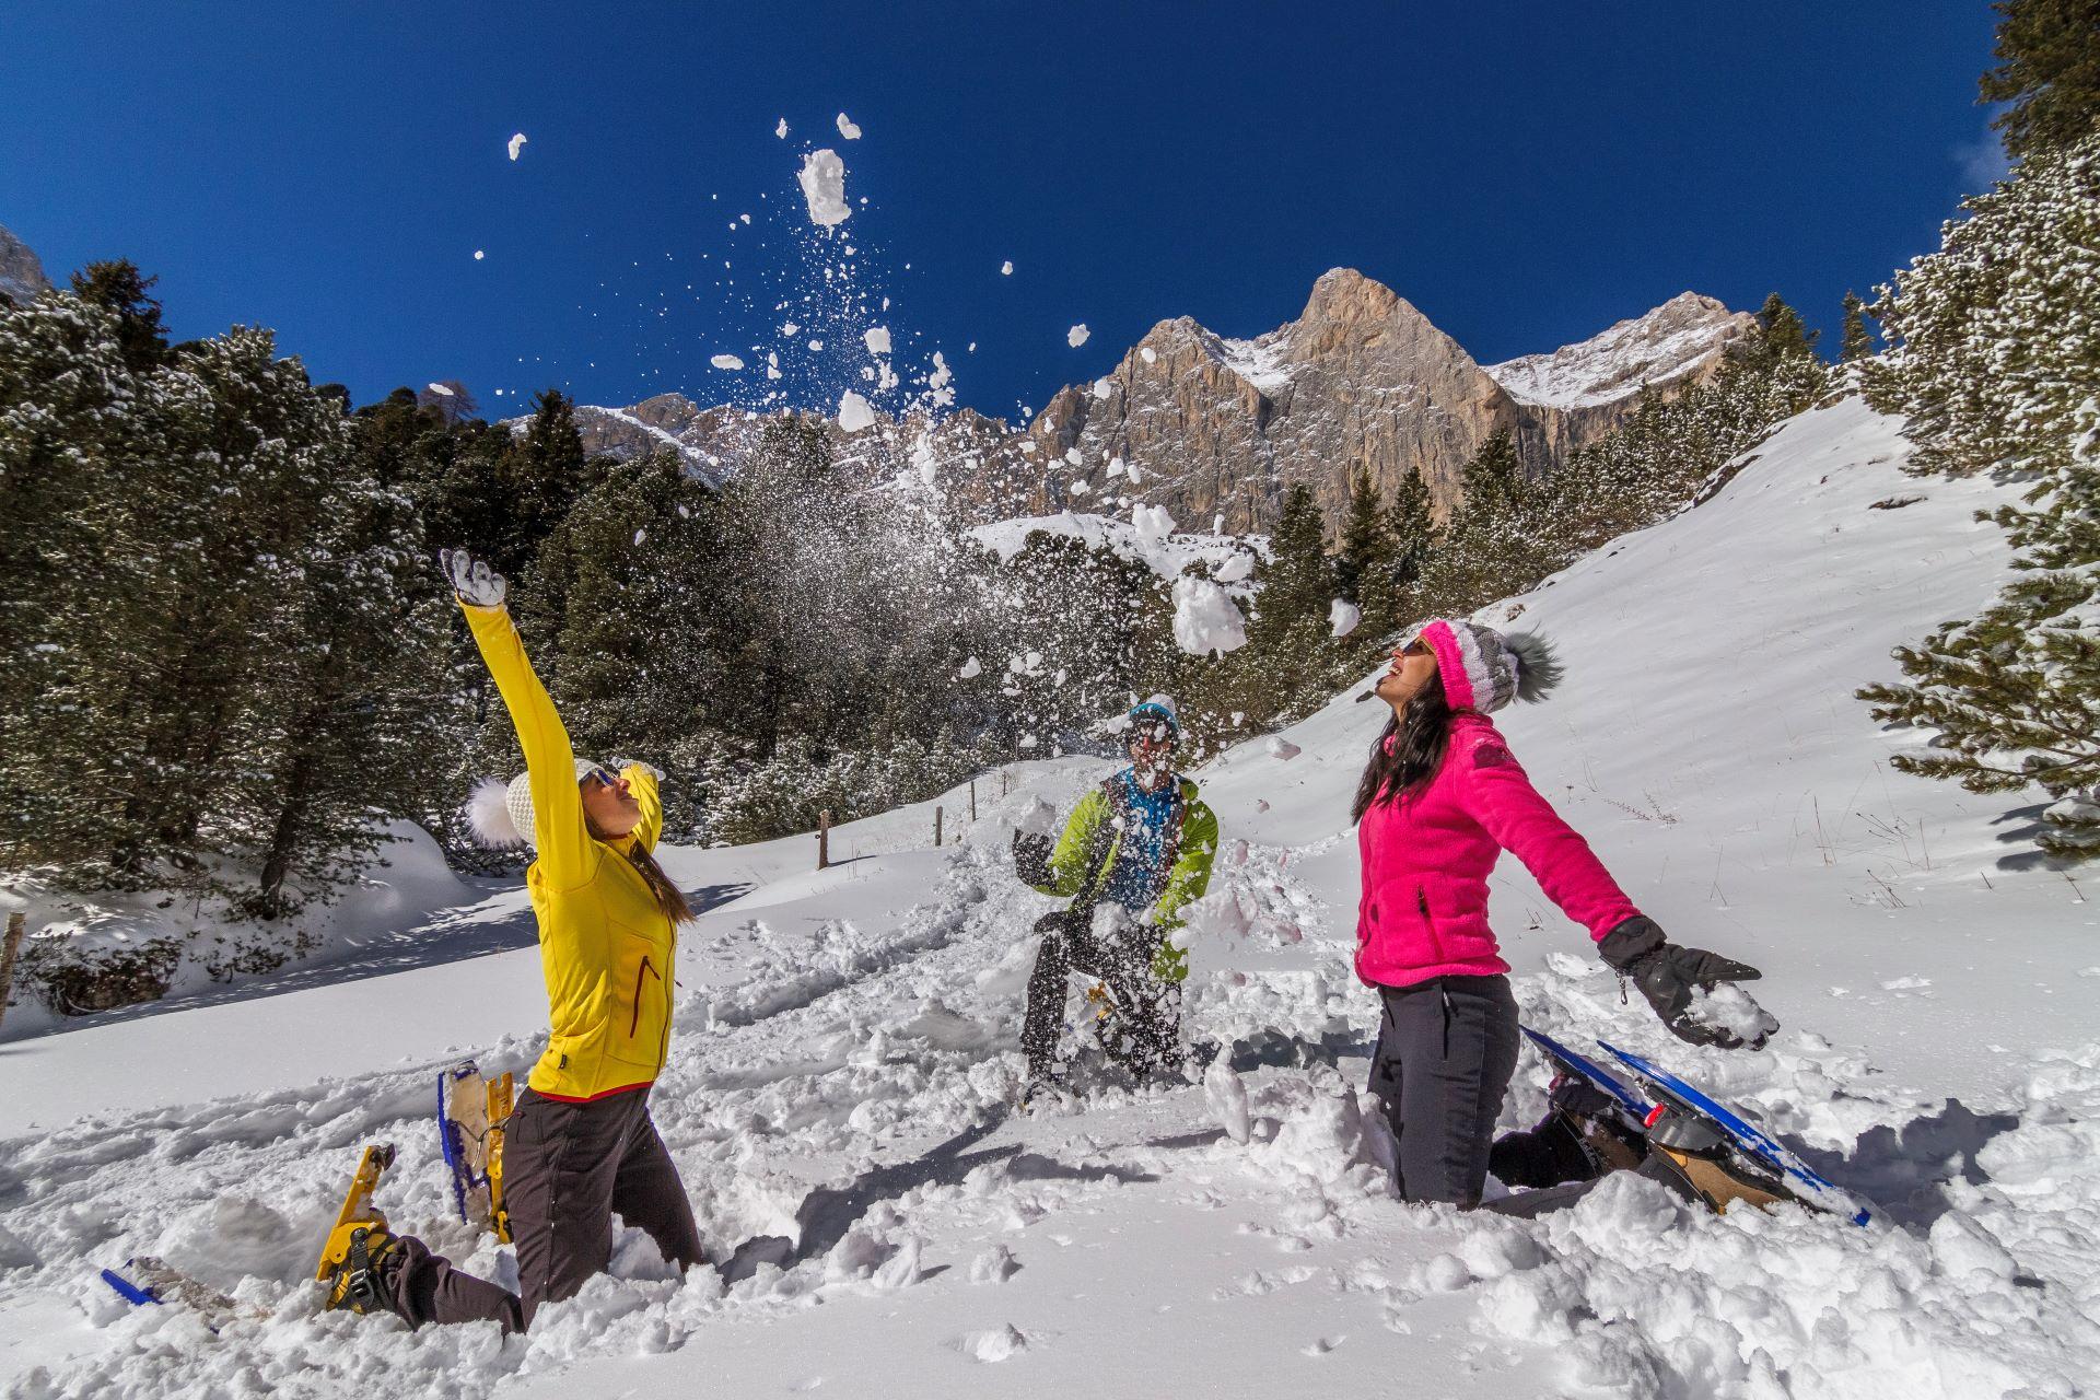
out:
M1487 873L1504 850L1590 938L1640 913L1483 714L1453 716L1443 768L1413 798L1365 812L1357 848L1357 976L1373 987L1510 970L1487 926Z

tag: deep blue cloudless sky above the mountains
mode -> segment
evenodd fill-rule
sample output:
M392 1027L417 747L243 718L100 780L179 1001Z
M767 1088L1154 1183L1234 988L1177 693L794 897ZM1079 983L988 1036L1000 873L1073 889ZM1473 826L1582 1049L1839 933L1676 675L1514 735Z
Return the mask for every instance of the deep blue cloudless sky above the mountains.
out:
M1987 0L67 0L0 40L0 225L55 277L158 273L183 336L273 325L357 401L752 397L708 357L781 319L760 264L825 258L794 170L830 145L878 319L1010 416L1163 317L1287 321L1334 264L1483 363L1686 288L1833 325L1989 181L1989 48Z

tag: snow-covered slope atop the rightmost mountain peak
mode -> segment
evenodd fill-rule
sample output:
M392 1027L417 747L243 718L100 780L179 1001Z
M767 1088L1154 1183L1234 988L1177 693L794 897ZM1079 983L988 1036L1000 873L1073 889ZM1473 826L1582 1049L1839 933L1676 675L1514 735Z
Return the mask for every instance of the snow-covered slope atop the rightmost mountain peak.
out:
M1712 296L1682 292L1646 315L1619 321L1550 355L1520 355L1485 365L1512 399L1541 407L1592 407L1674 384L1749 334L1756 317Z

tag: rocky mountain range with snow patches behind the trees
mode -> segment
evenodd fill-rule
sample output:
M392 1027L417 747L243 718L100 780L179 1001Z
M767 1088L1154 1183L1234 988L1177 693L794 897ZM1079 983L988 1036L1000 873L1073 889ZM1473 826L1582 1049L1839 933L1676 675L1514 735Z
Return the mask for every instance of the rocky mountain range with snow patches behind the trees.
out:
M1707 374L1751 325L1686 292L1581 344L1483 369L1390 288L1336 269L1312 283L1304 315L1254 340L1161 321L1023 430L960 411L901 424L888 447L882 432L840 447L869 476L920 466L970 521L1149 504L1186 529L1264 533L1285 491L1306 483L1334 533L1359 468L1388 497L1420 474L1447 514L1466 460L1493 432L1514 430L1527 468L1550 472L1619 426L1642 386ZM592 449L676 445L710 474L733 470L756 428L682 395L578 416Z

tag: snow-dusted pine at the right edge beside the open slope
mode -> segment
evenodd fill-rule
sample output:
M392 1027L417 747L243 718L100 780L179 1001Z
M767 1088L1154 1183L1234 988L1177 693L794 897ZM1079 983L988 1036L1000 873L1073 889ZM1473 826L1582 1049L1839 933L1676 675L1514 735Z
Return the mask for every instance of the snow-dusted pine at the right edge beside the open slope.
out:
M2035 128L2043 130L2043 128ZM2043 848L2100 854L2100 132L2029 145L2014 176L1964 204L1884 290L1890 351L1869 403L1907 418L1915 470L2031 481L1993 518L2014 579L1978 617L1896 661L1911 684L1861 691L1877 718L1936 730L1913 772L1974 791L2039 785L2056 802Z

